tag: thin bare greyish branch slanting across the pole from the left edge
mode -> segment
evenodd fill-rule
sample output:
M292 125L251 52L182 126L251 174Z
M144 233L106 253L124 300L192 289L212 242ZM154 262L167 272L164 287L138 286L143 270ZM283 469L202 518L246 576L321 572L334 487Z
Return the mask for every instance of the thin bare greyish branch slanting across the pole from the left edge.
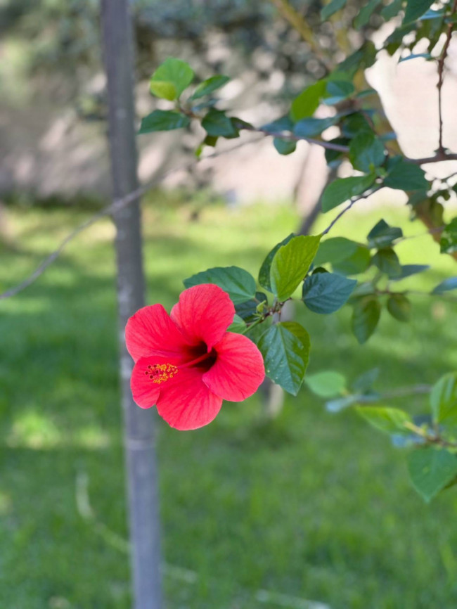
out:
M217 158L221 155L231 153L233 150L237 150L238 148L241 148L242 146L246 146L247 144L254 143L254 142L255 142L255 140L240 142L236 146L232 146L231 148L228 148L228 150L219 150L218 152L207 155L205 158L202 158L201 160ZM39 264L37 269L35 269L32 274L30 274L27 278L25 278L24 281L21 281L16 286L13 286L13 288L6 290L6 292L4 292L4 293L1 293L0 300L3 300L4 298L10 298L11 296L15 296L16 294L22 292L22 290L25 290L25 288L28 288L29 286L31 286L32 283L34 283L34 281L37 281L39 276L41 276L44 273L44 271L46 271L46 269L54 262L54 260L56 260L60 256L60 254L63 252L63 250L65 250L68 243L70 243L70 241L73 241L73 239L75 237L77 237L79 235L79 233L82 233L82 231L85 231L86 229L88 229L89 226L92 226L92 224L95 224L101 218L103 218L105 216L109 216L112 213L120 211L124 207L127 207L127 205L134 203L134 201L136 201L139 197L141 197L148 190L150 190L150 188L152 188L156 184L159 184L160 181L162 181L169 175L172 175L175 172L183 171L185 169L191 169L191 167L194 167L195 165L197 165L198 162L199 162L199 160L193 160L192 162L188 162L184 165L180 165L179 167L174 167L173 169L169 169L169 171L162 174L162 176L154 177L150 181L146 182L146 184L143 184L143 186L136 188L135 191L132 191L128 195L126 195L122 198L113 200L113 202L110 203L110 205L106 205L106 207L103 207L102 210L100 210L99 212L97 212L96 214L91 216L89 219L87 219L86 222L79 224L79 226L77 226L74 231L71 231L63 239L63 241L60 242L60 245L58 245L58 248L56 248L56 250L53 250L53 252L51 252L51 254L49 254L49 256L46 257L43 260L43 262L41 262L41 264Z

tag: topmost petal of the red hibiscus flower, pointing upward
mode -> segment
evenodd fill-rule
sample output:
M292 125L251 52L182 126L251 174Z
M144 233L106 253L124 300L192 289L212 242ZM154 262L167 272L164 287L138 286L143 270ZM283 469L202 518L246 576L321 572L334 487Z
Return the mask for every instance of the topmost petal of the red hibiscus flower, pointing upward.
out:
M205 342L208 352L224 336L234 315L235 307L228 294L212 283L184 290L170 313L188 340Z

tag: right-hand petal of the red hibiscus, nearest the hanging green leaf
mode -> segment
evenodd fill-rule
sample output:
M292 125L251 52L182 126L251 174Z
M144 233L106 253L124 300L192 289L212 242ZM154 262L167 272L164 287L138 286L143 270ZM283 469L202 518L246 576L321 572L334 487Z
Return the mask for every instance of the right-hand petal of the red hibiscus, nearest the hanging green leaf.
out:
M265 377L264 360L246 336L227 332L214 346L217 359L203 375L210 390L231 402L252 395Z

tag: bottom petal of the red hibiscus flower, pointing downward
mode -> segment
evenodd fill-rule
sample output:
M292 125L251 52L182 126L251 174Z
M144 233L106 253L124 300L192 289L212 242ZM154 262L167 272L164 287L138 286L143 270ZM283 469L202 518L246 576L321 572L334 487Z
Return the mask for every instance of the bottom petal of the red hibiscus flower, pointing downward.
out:
M202 382L201 371L183 368L161 385L157 411L172 427L189 430L211 423L221 404L222 398Z

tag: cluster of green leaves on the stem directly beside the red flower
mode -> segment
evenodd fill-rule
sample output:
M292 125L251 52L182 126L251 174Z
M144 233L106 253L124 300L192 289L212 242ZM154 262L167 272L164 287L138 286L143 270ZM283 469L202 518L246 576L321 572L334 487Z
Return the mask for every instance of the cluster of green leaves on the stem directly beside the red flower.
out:
M231 331L244 333L257 343L266 374L292 395L297 395L302 385L311 345L300 323L281 321L284 302L304 282L303 298L309 309L333 312L346 302L356 283L326 272L308 276L320 241L321 236L291 234L269 252L258 276L259 286L269 296L257 290L250 273L238 267L208 269L184 280L186 288L215 283L230 295L236 307ZM322 284L321 277L325 278Z

